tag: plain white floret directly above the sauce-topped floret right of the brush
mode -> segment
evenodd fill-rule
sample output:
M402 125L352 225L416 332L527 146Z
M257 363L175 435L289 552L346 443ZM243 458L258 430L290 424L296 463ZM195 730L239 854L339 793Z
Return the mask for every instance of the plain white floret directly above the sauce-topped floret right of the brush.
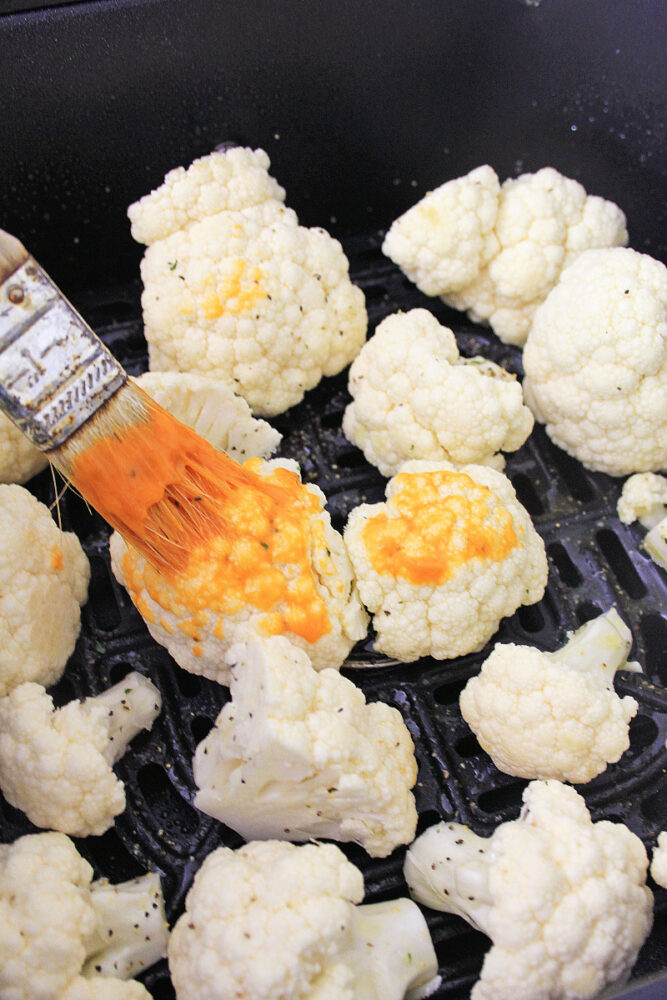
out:
M426 309L388 316L352 362L343 432L384 476L410 459L504 465L533 429L521 385L486 358L459 356Z

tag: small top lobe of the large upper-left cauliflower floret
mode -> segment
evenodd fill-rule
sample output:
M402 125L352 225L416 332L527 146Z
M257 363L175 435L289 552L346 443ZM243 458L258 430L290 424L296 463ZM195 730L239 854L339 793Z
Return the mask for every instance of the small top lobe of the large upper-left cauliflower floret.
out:
M209 215L284 201L285 191L269 174L270 165L263 149L234 146L214 150L187 169L170 170L159 188L128 208L132 236L150 246Z

